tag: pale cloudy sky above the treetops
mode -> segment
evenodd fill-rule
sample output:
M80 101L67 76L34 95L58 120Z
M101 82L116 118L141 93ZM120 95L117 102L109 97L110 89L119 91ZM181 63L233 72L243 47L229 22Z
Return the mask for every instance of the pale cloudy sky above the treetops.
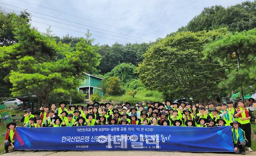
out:
M7 12L28 9L32 14L31 25L40 32L46 33L51 25L53 35L86 37L89 29L91 37L95 39L94 44L112 45L115 42L142 43L164 38L181 26L186 26L204 7L228 7L244 1L1 0L0 7L10 9Z

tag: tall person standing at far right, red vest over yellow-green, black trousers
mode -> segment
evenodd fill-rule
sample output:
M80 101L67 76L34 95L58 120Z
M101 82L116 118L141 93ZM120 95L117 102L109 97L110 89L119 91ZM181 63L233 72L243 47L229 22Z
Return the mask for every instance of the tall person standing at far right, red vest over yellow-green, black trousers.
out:
M253 118L251 110L244 107L244 103L239 101L238 107L235 109L234 118L241 124L240 127L245 132L245 136L248 140L247 151L252 152L251 149L251 123L250 120Z

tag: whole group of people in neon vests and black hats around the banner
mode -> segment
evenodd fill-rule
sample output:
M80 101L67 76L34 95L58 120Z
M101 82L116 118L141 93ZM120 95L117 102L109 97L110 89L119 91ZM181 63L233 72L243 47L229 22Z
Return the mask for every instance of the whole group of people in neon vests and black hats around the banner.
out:
M237 108L232 101L225 103L209 102L192 105L191 102L137 102L132 106L123 104L94 102L87 106L69 105L65 102L40 107L32 112L26 109L21 122L24 127L70 127L93 125L152 125L183 127L216 127L232 126L234 151L245 154L245 147L251 150L251 111L242 101L237 101ZM8 123L5 139L5 150L14 148L16 123Z

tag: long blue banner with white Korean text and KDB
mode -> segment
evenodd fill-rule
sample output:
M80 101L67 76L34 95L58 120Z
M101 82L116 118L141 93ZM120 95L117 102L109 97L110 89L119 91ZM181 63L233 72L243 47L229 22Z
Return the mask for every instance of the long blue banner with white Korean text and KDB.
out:
M233 152L230 126L17 127L15 149Z

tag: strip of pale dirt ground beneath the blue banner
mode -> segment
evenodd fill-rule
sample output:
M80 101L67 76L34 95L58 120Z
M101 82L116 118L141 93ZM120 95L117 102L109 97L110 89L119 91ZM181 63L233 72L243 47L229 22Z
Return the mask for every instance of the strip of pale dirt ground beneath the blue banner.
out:
M233 153L190 153L190 152L162 152L162 151L39 151L33 153L32 151L14 151L3 154L2 156L234 156ZM246 151L246 155L256 156L256 152Z

